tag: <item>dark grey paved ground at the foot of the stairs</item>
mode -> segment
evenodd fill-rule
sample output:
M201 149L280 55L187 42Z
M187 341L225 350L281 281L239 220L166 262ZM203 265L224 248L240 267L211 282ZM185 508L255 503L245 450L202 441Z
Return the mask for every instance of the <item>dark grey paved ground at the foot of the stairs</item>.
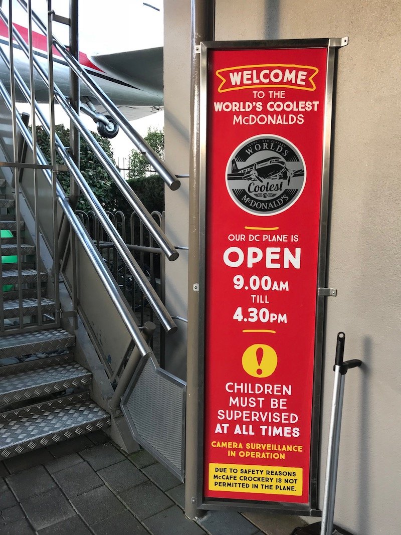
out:
M1 535L291 535L298 517L183 514L184 485L102 432L0 462Z

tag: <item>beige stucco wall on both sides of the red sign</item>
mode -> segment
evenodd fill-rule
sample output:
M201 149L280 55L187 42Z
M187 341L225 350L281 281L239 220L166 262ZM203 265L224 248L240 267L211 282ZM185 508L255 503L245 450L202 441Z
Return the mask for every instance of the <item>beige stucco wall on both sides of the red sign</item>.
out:
M166 157L176 172L189 162L189 4L165 1ZM328 269L338 295L327 301L321 479L343 330L345 357L364 362L346 377L335 513L355 535L400 531L400 13L398 0L216 2L219 40L349 36L338 51ZM188 240L187 206L187 188L167 196L167 230L180 244ZM180 315L185 260L168 290L169 309ZM182 348L180 355L175 365Z

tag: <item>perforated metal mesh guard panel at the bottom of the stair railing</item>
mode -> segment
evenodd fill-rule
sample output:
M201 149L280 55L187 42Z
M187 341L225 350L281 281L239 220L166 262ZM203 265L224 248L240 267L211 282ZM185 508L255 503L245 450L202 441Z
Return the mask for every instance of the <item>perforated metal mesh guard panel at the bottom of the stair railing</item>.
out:
M121 408L134 438L183 481L186 383L144 363L127 388Z

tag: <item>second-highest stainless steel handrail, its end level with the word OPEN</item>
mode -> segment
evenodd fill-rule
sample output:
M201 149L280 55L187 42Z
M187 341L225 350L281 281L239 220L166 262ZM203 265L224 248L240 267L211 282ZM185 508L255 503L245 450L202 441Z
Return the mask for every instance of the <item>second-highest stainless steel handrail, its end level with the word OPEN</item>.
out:
M3 20L5 24L8 24L7 17L5 16L2 9L0 9L0 18ZM20 33L15 27L12 28L12 33L13 33L13 37L16 39L16 41L20 45L21 50L25 53L27 57L29 57L28 47L24 39L22 39L22 36L20 35ZM33 58L33 64L37 72L40 74L40 77L42 78L44 83L47 86L49 86L48 75L44 71L41 64L38 63L35 57ZM115 184L117 184L117 186L121 190L121 193L125 196L128 203L131 205L133 210L137 213L138 217L143 221L144 225L146 226L146 228L148 228L153 238L155 238L156 242L159 244L160 248L163 250L167 258L171 261L178 258L179 256L178 251L174 248L173 244L168 240L164 232L160 230L160 227L157 226L157 224L155 223L155 220L153 220L148 210L146 210L142 201L136 196L133 190L128 186L127 182L124 179L122 179L119 171L117 170L117 167L115 167L115 165L113 164L109 156L105 154L105 152L103 151L99 143L96 141L95 137L88 131L86 126L83 125L79 115L68 104L66 98L63 95L63 92L57 87L56 84L54 84L54 95L55 95L57 102L61 105L61 107L67 113L68 117L73 121L76 128L78 128L80 134L82 135L84 140L88 143L88 145L94 152L95 156L102 163L102 165L104 166L106 171L109 173L111 178L113 178Z

